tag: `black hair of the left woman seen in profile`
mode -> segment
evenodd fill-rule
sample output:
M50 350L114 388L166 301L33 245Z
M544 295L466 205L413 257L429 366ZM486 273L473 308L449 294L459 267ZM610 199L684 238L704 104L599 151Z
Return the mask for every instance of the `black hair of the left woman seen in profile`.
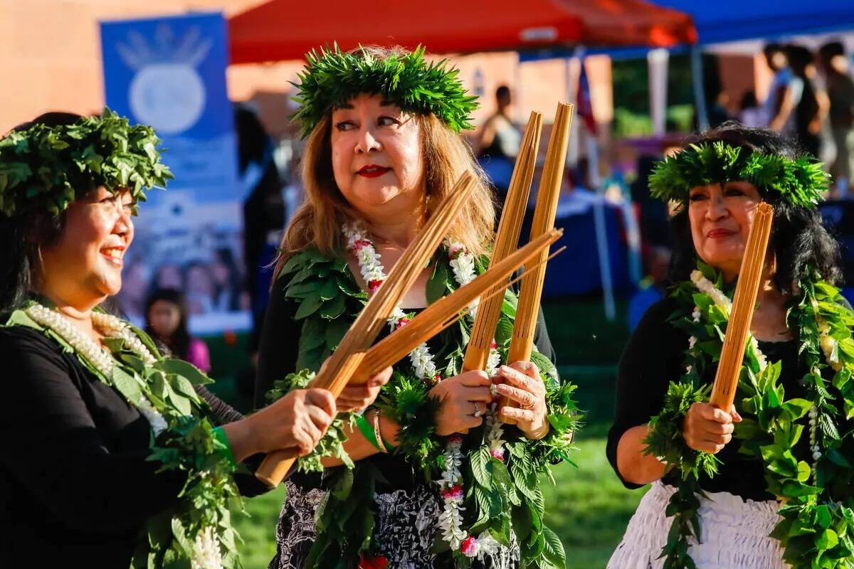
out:
M35 125L73 125L80 119L75 113L44 113L13 132L26 131ZM0 318L20 306L35 286L34 270L38 266L38 247L56 242L65 226L65 214L48 213L15 216L0 214Z

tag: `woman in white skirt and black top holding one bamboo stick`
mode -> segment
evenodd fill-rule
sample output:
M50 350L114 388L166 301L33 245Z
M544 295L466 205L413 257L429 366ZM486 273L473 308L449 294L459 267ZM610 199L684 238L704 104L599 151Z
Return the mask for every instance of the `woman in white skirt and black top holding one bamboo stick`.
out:
M670 297L629 340L608 435L629 488L652 483L614 569L854 566L854 342L822 165L729 123L660 162L676 202ZM733 409L708 404L754 210L774 206Z

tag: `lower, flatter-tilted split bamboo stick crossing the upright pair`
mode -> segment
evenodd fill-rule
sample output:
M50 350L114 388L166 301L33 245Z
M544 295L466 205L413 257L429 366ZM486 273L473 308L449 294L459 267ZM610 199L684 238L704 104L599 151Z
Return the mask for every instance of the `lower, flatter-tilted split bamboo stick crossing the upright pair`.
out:
M459 287L453 293L448 294L424 309L412 318L406 326L396 329L377 342L377 345L367 351L365 358L360 363L359 369L353 374L349 385L361 385L366 383L373 374L378 374L389 365L398 362L402 357L415 349L416 346L429 340L436 334L442 332L451 323L456 322L461 311L473 299L481 298L486 291L503 296L507 277L514 270L533 258L538 258L540 253L548 251L549 245L557 241L563 231L553 229L527 245L511 253L499 263L492 263L489 269L478 275L474 280L463 287ZM503 283L503 284L502 284ZM501 286L496 286L496 284Z

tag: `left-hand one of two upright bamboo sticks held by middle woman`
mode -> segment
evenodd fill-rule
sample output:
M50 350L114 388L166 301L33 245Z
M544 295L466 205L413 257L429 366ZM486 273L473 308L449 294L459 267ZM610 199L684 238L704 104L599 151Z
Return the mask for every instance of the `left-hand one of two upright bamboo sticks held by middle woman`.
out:
M513 166L510 188L507 191L507 199L501 212L498 232L495 235L492 257L489 260L490 266L499 263L501 259L506 258L518 247L519 232L522 230L531 179L534 177L536 156L540 148L541 131L542 115L532 111L528 126L525 127L516 165ZM495 327L498 326L506 286L506 282L498 283L494 290L484 294L485 298L477 306L477 315L471 327L469 345L465 347L464 371L486 369L489 347L492 345L495 336ZM501 289L500 293L498 293L498 288Z

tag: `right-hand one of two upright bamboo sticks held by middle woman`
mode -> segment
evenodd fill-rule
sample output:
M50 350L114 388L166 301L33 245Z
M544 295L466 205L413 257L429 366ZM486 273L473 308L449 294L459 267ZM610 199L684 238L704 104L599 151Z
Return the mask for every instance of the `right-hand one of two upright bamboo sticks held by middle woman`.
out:
M558 212L560 184L564 179L566 151L570 144L570 128L572 127L572 111L570 103L559 103L558 112L554 117L552 136L548 141L546 165L543 166L540 189L536 195L534 221L531 224L531 239L539 237L554 227L554 216ZM526 275L519 291L519 301L516 308L516 320L513 322L513 335L510 340L510 350L507 362L526 362L531 357L534 345L534 331L537 315L540 312L542 284L546 279L546 264L542 263L547 255L540 253L539 259L525 266ZM538 262L539 261L539 262ZM500 405L509 404L503 398Z

